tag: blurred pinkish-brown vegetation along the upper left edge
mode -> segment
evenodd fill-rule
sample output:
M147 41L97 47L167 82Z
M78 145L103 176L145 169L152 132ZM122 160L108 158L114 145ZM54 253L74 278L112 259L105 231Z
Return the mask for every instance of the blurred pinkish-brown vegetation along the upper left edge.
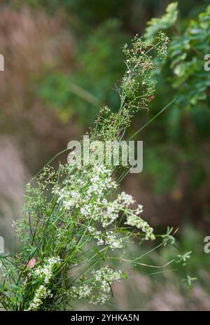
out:
M1 53L5 71L0 78L1 134L13 137L23 160L35 172L66 142L76 127L64 125L37 96L43 74L71 71L74 42L62 14L6 9L0 14Z

